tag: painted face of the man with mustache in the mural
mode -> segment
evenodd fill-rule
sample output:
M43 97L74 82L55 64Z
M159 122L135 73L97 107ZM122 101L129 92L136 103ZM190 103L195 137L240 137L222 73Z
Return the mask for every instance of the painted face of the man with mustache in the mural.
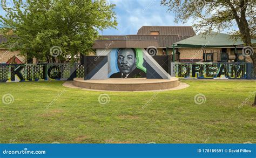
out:
M123 74L129 74L136 68L135 52L132 49L120 49L117 54L117 65Z

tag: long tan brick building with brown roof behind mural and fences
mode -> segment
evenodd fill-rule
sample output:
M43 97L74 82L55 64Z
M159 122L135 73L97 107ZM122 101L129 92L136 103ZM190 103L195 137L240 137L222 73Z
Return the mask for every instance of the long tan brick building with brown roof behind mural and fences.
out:
M233 42L230 35L217 33L203 37L196 35L192 26L142 26L137 35L100 36L93 44L97 56L104 55L106 49L140 48L151 55L172 55L177 62L251 62L242 56L242 41ZM0 35L0 43L6 39ZM252 43L256 43L252 39ZM256 47L253 48L254 52ZM89 53L94 55L94 53ZM0 48L0 63L28 63L19 51L11 52ZM37 63L36 59L30 63Z

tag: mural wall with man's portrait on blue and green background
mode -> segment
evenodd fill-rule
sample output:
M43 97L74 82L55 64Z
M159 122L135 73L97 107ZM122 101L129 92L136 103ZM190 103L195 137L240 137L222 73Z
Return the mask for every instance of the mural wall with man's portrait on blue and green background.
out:
M97 56L107 56L107 78L171 77L144 49L109 49L97 52Z

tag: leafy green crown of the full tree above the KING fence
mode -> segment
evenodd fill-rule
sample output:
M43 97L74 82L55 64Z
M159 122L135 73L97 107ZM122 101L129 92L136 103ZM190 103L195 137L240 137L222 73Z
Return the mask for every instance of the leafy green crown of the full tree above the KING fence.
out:
M8 38L5 45L41 61L75 61L79 53L91 50L99 30L117 25L114 4L105 0L26 0L12 4L8 8L2 4L6 14L0 16L0 25ZM16 36L10 36L10 30Z

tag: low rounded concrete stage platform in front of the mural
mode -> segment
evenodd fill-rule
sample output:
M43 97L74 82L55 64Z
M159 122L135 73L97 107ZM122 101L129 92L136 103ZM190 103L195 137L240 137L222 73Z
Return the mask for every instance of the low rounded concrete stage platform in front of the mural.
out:
M104 80L84 80L83 78L74 78L73 85L89 90L103 91L157 91L169 90L179 86L179 79L104 79Z

